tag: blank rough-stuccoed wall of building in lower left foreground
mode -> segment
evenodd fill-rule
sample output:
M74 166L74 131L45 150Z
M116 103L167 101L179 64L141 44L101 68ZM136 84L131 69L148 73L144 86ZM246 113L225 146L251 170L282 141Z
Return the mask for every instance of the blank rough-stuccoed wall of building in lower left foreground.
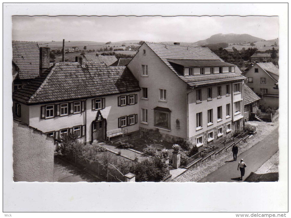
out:
M14 182L53 182L56 146L53 137L13 119Z

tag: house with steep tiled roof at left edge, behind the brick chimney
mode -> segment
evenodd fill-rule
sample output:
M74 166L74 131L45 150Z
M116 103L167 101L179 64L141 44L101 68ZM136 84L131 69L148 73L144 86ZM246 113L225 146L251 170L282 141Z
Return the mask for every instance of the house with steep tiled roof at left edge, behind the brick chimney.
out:
M38 76L39 67L37 42L12 41L12 91Z

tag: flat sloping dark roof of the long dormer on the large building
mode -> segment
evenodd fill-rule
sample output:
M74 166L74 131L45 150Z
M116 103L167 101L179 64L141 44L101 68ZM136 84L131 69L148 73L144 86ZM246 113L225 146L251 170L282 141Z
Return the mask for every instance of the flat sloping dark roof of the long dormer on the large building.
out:
M184 67L219 67L219 66L235 66L219 60L177 60L168 59L168 62L182 65Z

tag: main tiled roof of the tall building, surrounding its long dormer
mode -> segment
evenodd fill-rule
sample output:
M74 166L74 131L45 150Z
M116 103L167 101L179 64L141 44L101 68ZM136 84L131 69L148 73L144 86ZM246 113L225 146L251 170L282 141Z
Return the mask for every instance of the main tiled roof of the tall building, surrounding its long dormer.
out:
M183 76L177 72L170 64L168 59L177 60L219 60L223 61L215 53L213 53L207 47L200 46L186 46L186 45L174 45L164 43L145 42L151 50L156 53L158 57L180 77L184 82L190 86L210 85L220 82L231 82L246 79L244 76L238 73L220 73L220 74L206 74L206 75L194 75Z

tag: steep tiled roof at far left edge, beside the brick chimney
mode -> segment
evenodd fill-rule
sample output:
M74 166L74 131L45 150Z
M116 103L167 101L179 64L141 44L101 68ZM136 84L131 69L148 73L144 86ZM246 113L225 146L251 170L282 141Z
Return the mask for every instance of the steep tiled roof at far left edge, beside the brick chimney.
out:
M19 79L39 75L39 46L37 42L12 41L12 62L19 68Z

